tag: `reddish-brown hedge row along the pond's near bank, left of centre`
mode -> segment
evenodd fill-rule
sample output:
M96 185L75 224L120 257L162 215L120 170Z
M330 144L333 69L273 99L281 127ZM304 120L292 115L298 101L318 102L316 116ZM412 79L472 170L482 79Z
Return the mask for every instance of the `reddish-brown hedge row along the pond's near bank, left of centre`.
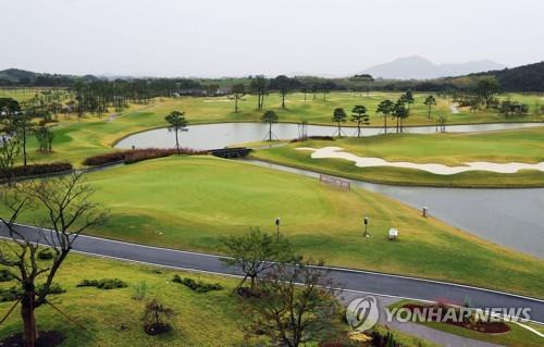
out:
M133 149L133 150L114 151L110 153L89 157L85 159L83 164L88 166L104 165L114 162L125 162L125 164L132 164L147 159L170 157L176 153L177 150L175 148ZM186 156L195 156L195 154L206 154L207 151L195 150L190 148L180 148L180 153Z

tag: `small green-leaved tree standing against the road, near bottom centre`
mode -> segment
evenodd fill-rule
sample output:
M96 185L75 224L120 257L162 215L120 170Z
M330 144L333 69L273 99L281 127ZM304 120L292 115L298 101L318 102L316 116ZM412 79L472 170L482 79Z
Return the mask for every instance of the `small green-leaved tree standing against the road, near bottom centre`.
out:
M271 269L273 262L288 261L293 258L293 247L283 235L272 236L258 228L251 228L242 236L222 237L221 243L227 258L221 261L228 267L237 267L245 276L236 288L250 280L251 293L256 293L256 280Z

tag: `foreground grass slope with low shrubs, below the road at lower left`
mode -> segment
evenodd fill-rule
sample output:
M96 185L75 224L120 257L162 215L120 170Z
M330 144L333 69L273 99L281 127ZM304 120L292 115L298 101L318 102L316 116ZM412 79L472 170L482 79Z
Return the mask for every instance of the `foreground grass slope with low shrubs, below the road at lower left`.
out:
M174 274L208 283L220 283L219 292L198 294L173 283ZM84 278L120 278L127 288L101 290L94 287L76 287ZM69 313L87 330L84 331L48 305L36 311L40 330L59 330L67 339L62 346L240 346L244 342L244 325L248 322L239 314L237 298L231 295L235 278L206 274L183 273L134 265L120 261L95 259L73 253L61 268L55 282L66 293L50 296L52 303ZM135 286L145 282L146 299L135 300ZM15 282L0 283L11 287ZM173 331L164 336L148 336L140 318L145 303L158 299L172 308ZM13 302L1 302L0 311L7 312ZM3 313L2 313L3 317ZM124 329L122 326L124 325ZM22 330L18 309L0 329L0 339ZM257 340L256 340L257 342Z

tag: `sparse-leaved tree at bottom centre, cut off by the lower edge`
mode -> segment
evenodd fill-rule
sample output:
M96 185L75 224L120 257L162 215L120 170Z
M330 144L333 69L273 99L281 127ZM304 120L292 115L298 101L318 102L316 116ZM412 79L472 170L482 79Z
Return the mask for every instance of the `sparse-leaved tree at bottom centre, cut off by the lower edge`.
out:
M260 281L261 297L249 301L255 325L277 346L334 335L339 317L336 293L322 265L311 261L276 263Z

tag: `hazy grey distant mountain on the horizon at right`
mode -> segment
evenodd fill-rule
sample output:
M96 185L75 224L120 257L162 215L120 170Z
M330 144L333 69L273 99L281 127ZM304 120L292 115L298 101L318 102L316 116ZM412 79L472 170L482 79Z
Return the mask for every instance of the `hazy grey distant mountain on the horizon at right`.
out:
M434 64L422 57L412 55L372 66L362 73L387 79L432 79L504 67L504 65L491 60L470 61L458 64Z

